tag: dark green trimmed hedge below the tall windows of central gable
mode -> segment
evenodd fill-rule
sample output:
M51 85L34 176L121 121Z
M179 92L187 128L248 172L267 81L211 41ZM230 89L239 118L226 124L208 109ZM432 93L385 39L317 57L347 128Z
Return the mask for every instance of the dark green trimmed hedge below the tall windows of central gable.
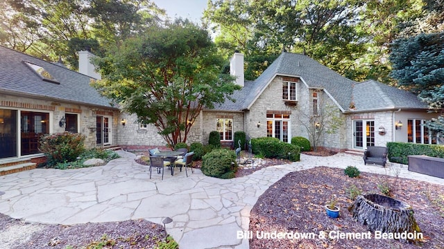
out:
M262 154L266 158L289 159L293 162L300 160L300 147L278 138L253 138L251 146L253 154Z

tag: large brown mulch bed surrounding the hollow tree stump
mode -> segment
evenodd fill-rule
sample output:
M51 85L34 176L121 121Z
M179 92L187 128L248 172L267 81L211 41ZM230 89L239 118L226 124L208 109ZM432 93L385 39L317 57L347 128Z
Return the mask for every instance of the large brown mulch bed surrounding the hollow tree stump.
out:
M380 183L392 187L393 198L411 205L416 221L424 235L420 245L395 239L331 239L330 231L368 232L365 225L355 221L347 208L350 186L363 194L379 193ZM338 219L328 218L325 203L332 196L339 199ZM343 169L316 167L291 172L273 184L250 212L253 239L250 248L444 248L444 187L423 181L385 175L361 173L359 178L345 176ZM257 232L326 232L320 239L257 239Z

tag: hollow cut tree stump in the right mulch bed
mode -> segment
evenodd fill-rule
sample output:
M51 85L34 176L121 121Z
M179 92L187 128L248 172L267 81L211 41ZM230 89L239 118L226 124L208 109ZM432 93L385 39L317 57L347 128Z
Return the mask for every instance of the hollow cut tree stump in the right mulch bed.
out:
M386 233L420 232L413 216L411 205L381 194L366 194L357 196L355 202L348 208L362 225L368 230ZM402 239L404 240L404 239ZM415 239L405 239L415 243Z

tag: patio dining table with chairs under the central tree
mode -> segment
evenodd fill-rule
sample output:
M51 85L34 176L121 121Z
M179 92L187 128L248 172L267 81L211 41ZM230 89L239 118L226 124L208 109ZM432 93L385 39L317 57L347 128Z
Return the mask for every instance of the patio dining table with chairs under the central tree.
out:
M160 151L159 149L150 149L150 179L151 173L153 172L153 167L157 169L157 174L162 171L162 180L164 179L164 167L169 167L171 169L171 176L174 175L174 168L180 167L180 172L182 172L182 167L185 167L185 174L188 177L187 167L191 167L193 163L194 151L188 152L186 148L180 148L176 151ZM191 173L193 168L191 167Z

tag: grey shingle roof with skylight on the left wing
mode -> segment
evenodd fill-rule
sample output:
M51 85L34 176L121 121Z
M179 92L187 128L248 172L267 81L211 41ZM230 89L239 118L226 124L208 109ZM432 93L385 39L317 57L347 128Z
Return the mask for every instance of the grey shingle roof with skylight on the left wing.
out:
M60 84L42 80L24 63L42 66ZM31 55L0 46L0 91L26 93L38 98L83 103L87 105L112 107L110 100L103 98L96 89L89 86L91 77L71 71L64 66L45 62Z

